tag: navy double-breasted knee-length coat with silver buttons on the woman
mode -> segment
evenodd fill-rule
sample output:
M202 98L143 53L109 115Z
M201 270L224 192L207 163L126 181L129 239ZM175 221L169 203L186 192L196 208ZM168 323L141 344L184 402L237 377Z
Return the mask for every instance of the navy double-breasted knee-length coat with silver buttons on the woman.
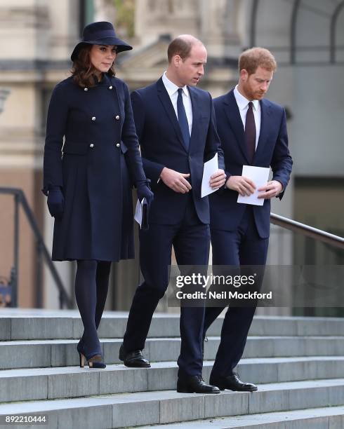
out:
M107 74L93 88L81 88L72 76L58 83L44 147L43 192L62 186L65 198L52 259L132 258L131 181L140 180L145 173L126 84Z

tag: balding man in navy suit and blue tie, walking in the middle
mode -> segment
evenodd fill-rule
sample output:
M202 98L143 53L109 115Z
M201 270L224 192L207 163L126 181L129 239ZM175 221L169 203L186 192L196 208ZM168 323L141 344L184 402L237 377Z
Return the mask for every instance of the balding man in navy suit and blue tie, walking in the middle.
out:
M206 266L209 259L209 201L201 198L204 161L218 154L219 170L210 185L225 184L223 152L211 95L195 88L204 74L206 48L190 35L168 46L168 69L131 95L143 168L151 179L154 201L148 231L140 231L138 287L119 358L128 367L150 367L143 357L155 308L168 286L172 246L178 265ZM219 393L201 378L204 306L180 308L178 392Z

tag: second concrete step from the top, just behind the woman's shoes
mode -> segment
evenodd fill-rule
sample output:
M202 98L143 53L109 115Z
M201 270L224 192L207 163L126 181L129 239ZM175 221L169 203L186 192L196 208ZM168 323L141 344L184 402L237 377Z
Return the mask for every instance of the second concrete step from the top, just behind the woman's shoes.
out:
M2 369L34 367L67 367L78 365L78 340L0 341ZM122 339L100 339L105 361L121 363L118 359ZM204 344L204 359L214 360L220 337L209 336ZM152 362L177 360L179 338L150 338L146 341L145 356ZM343 336L249 336L244 357L344 355Z

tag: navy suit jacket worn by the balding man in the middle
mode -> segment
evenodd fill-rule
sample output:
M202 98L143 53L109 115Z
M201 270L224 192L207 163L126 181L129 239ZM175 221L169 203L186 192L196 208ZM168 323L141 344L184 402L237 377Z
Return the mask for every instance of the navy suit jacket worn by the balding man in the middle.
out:
M136 132L140 142L145 175L151 179L154 201L150 207L151 224L178 224L183 220L189 198L177 193L160 179L164 167L190 173L192 198L199 220L209 224L209 200L201 198L204 161L218 153L219 168L225 167L216 130L211 95L188 87L192 102L192 132L189 151L185 149L176 112L160 78L146 88L131 93Z

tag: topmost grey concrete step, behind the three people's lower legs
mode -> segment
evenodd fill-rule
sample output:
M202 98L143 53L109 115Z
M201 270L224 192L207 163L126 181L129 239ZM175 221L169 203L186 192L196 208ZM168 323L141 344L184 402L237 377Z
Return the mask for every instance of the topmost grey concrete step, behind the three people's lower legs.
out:
M82 324L76 310L44 311L4 308L0 310L0 341L27 339L79 339ZM100 324L102 338L122 338L128 313L107 311ZM207 335L220 335L219 318ZM251 336L341 336L344 318L293 318L284 316L256 316ZM150 328L150 337L179 336L179 315L157 313Z

